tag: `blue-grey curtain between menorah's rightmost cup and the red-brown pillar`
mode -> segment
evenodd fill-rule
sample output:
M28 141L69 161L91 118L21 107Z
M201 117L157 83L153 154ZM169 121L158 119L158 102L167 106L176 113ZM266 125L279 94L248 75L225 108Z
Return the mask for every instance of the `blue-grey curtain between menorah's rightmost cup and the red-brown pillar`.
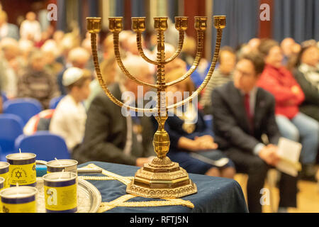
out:
M259 20L259 1L256 0L214 0L213 15L226 16L226 28L223 29L221 46L237 48L251 38L257 37ZM215 48L216 29L213 28L213 46Z

